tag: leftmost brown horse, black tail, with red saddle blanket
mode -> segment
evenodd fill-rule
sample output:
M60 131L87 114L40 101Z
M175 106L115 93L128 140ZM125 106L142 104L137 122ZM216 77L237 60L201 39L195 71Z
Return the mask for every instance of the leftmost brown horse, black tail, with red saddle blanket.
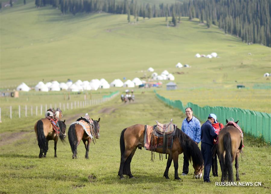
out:
M66 137L66 124L65 120L64 121L58 121L57 125L59 126L59 138L62 143L65 142L65 137ZM40 119L38 120L35 125L34 129L36 132L36 137L38 140L38 145L39 145L39 158L41 157L46 157L46 153L48 151L48 141L49 140L54 140L55 142L55 157L56 155L56 144L58 141L58 135L53 129L52 123L50 122L49 119ZM43 155L44 154L44 155Z

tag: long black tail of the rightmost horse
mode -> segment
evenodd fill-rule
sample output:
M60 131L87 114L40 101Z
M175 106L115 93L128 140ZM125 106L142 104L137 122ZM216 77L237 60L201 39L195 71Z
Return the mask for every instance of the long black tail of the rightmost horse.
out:
M232 138L229 132L226 132L223 137L223 145L225 150L224 168L225 175L228 177L228 181L233 181L232 172Z

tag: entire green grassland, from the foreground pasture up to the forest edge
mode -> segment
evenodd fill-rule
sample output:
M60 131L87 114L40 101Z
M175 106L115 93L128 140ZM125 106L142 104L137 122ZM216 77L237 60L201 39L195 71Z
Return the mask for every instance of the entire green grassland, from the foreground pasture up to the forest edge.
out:
M150 2L150 1L146 1ZM271 50L259 44L247 45L216 26L207 29L197 19L182 17L177 27L167 27L165 18L139 18L138 23L127 15L93 13L62 15L51 7L35 8L17 1L13 8L0 12L0 87L12 90L21 82L34 87L39 81L66 82L105 78L148 77L149 67L161 74L165 69L175 76L176 91L166 91L169 81L163 81L157 93L185 105L239 107L271 113L270 77ZM169 18L170 20L171 18ZM218 53L218 58L195 58L196 53ZM181 62L191 68L175 68ZM178 73L177 73L178 72ZM145 81L149 81L148 78ZM236 89L237 84L245 88ZM257 87L260 85L261 87ZM260 89L261 88L261 89ZM265 88L265 89L263 89ZM98 89L81 94L61 92L20 92L19 98L1 97L0 123L0 193L269 193L270 147L259 139L244 135L244 154L239 159L239 174L243 182L262 182L262 186L215 186L219 177L211 177L211 184L193 179L190 165L188 176L174 180L173 164L170 180L163 172L166 160L154 163L151 153L137 150L131 171L137 179L118 179L120 162L119 136L131 125L153 125L173 122L179 127L185 115L159 101L153 88L135 88L134 103L124 104L120 97L100 105L66 110L67 131L75 119L89 113L93 119L101 117L100 139L90 145L90 159L84 159L82 142L78 159L72 160L67 143L58 142L58 158L54 158L53 142L49 142L47 158L39 159L39 148L33 131L42 116L24 117L23 107L71 103L86 97L100 99L103 95L126 88ZM145 93L144 93L145 92ZM68 95L70 94L70 100ZM21 119L9 119L9 107L22 108ZM28 113L29 115L29 113ZM202 121L203 122L203 121ZM179 156L179 175L183 154ZM235 168L234 168L235 174Z

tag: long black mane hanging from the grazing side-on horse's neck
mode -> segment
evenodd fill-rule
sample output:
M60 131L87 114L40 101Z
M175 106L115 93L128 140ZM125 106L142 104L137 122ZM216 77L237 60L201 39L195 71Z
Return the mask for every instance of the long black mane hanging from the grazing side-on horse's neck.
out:
M178 127L176 128L175 137L179 139L179 143L182 147L184 155L186 155L188 160L190 162L192 160L193 164L196 166L203 166L203 157L199 147L195 144L195 142Z

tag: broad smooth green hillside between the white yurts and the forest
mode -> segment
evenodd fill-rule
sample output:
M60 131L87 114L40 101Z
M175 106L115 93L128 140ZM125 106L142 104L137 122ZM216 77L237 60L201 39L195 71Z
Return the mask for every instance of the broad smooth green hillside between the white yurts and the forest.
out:
M211 52L220 58L194 57ZM179 70L178 62L192 67ZM149 67L158 74L184 72L175 81L191 86L270 83L263 78L270 72L270 48L244 44L188 18L178 27L167 27L165 18L128 24L126 15L61 15L33 3L1 12L1 87L42 79L133 79Z

